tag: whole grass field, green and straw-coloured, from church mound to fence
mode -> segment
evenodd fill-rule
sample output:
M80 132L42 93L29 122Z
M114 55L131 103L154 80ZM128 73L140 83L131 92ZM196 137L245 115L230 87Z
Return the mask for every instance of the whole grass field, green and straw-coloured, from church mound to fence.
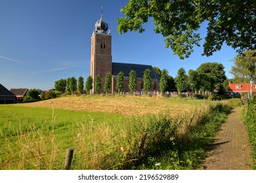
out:
M73 169L115 169L138 161L143 131L158 152L177 122L182 132L207 110L203 100L100 95L0 105L0 169L63 169L69 146Z

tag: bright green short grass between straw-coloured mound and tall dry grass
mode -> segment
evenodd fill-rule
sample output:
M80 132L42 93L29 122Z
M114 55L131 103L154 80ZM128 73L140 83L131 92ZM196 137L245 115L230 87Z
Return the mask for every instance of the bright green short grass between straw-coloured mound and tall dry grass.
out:
M68 131L75 124L93 119L95 123L106 120L114 123L124 118L120 114L105 114L102 112L87 112L76 110L62 110L53 108L24 107L19 105L0 105L1 135L12 134L14 129L27 131L34 126L44 126L61 133Z

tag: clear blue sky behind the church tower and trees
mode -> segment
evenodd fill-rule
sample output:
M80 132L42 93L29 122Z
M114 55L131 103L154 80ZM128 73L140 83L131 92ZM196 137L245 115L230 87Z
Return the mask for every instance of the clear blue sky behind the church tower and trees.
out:
M91 35L100 19L108 22L112 33L112 60L139 63L167 69L175 77L183 67L197 69L204 62L218 62L226 76L237 54L228 46L211 57L201 56L202 47L194 48L188 59L181 60L165 48L164 39L154 33L154 25L144 25L142 34L117 33L120 8L128 0L0 0L0 83L7 89L38 88L49 90L61 78L90 75ZM205 25L200 34L205 36Z

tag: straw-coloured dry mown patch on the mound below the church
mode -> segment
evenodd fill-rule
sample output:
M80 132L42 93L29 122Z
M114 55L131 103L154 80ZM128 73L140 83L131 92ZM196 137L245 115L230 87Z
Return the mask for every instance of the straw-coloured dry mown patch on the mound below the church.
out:
M125 115L158 114L160 112L179 113L194 108L194 105L170 102L164 98L150 97L60 97L36 103L24 104L28 107L52 107L67 110L85 110Z

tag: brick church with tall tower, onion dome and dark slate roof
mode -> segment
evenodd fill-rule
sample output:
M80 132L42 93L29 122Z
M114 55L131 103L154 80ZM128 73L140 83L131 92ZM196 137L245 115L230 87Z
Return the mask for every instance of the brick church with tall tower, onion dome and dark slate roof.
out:
M160 78L154 71L151 65L140 65L135 63L115 63L112 62L112 35L108 31L108 22L102 18L95 23L95 29L91 37L91 76L93 78L93 90L95 93L95 78L100 75L101 90L104 92L103 86L105 83L105 76L108 73L112 75L111 93L116 92L117 74L123 72L123 90L122 92L129 92L129 73L135 71L137 74L137 92L143 91L143 74L146 69L152 72L152 92L160 90Z

